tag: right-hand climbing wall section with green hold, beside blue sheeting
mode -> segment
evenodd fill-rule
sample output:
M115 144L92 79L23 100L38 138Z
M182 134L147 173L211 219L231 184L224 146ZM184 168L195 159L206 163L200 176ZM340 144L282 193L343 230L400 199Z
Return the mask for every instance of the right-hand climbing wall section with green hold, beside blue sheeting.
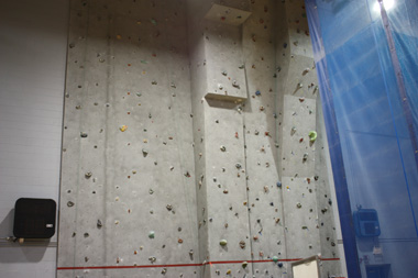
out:
M327 168L328 146L304 1L277 5L276 71L287 256L320 254L322 277L341 277Z

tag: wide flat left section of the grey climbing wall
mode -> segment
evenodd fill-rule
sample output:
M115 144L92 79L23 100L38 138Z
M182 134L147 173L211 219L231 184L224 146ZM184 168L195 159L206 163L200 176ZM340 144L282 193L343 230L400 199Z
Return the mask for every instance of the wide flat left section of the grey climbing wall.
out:
M58 277L196 276L185 2L70 9Z

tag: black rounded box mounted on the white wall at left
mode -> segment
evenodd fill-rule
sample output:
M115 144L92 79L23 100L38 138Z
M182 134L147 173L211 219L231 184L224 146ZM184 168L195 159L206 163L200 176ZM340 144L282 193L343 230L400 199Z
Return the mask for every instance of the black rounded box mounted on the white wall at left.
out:
M55 234L56 202L20 198L14 204L13 234L18 238L51 238Z

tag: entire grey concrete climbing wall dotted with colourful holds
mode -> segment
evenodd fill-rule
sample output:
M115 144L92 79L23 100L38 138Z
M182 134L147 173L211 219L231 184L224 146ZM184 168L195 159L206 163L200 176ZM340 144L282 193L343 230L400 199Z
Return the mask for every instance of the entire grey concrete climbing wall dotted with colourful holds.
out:
M58 277L339 271L302 1L73 0L66 80Z

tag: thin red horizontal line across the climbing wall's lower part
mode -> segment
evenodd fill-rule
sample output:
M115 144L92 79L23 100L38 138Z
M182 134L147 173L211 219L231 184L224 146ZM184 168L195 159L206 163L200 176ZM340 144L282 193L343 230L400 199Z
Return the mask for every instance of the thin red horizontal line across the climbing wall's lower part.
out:
M278 262L297 262L301 258L285 258ZM322 260L339 260L340 258L322 258ZM132 268L158 268L158 267L190 267L190 266L205 266L205 265L227 265L227 264L242 264L242 263L271 263L273 259L261 260L215 260L205 262L201 264L175 264L175 265L141 265L141 266L75 266L75 267L57 267L57 270L79 270L79 269L132 269Z

